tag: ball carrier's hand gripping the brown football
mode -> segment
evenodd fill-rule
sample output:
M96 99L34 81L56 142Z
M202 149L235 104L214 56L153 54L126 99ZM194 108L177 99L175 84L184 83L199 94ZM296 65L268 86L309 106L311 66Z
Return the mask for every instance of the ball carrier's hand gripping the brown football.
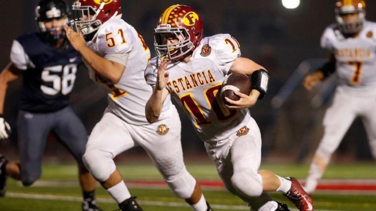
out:
M251 95L246 95L241 92L234 92L235 95L240 97L239 100L234 101L229 99L228 97L225 97L227 102L229 102L231 105L225 104L225 106L229 109L246 109L249 107L252 107L256 104L256 101L258 97L260 96L260 92L258 90L252 89Z

